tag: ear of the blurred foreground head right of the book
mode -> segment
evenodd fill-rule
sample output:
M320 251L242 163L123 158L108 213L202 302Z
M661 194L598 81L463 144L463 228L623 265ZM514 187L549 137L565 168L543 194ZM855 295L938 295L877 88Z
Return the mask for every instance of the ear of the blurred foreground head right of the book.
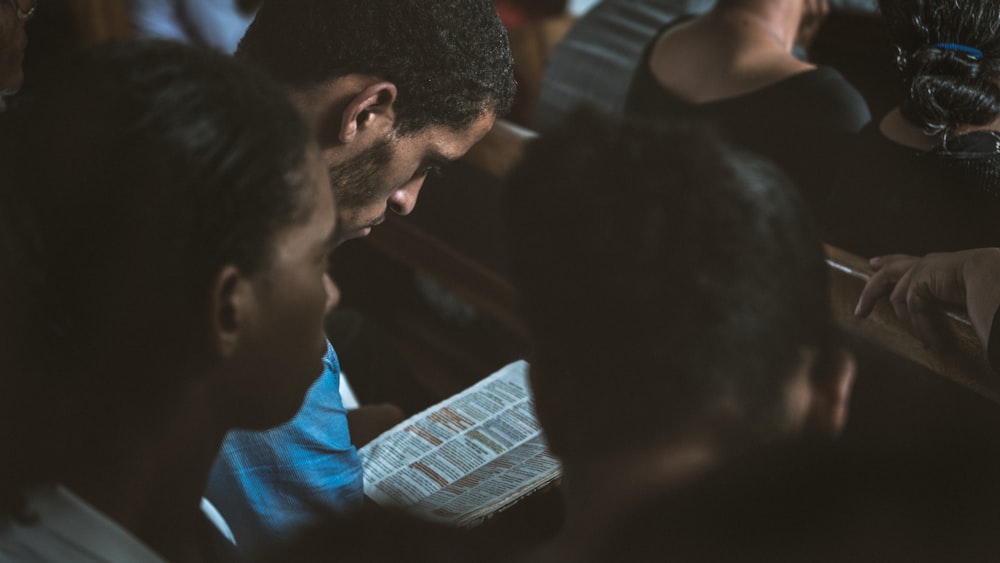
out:
M814 436L836 438L847 424L857 371L854 354L845 347L838 347L814 358L806 431Z

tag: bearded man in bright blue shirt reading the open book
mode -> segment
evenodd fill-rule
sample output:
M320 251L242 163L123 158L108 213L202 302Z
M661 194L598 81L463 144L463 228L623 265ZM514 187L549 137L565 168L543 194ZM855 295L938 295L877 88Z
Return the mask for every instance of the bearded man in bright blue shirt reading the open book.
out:
M410 213L427 174L485 135L515 90L489 0L265 2L236 55L285 85L311 125L341 240L367 235L389 211ZM289 424L227 438L207 496L241 547L286 538L318 511L360 507L355 446L399 419L378 407L348 414L339 380L331 354Z

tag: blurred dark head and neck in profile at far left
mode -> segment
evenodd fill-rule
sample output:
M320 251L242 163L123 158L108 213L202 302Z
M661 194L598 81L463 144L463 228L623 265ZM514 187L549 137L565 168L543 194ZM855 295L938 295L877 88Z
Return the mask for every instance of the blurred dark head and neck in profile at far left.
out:
M0 514L37 542L63 485L182 560L225 432L289 419L321 372L325 168L222 55L112 44L26 95L0 126Z

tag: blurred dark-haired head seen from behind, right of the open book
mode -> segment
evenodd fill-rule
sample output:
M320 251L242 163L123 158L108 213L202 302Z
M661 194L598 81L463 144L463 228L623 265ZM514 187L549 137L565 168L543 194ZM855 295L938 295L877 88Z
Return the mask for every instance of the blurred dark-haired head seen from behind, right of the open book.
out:
M509 179L531 382L588 526L745 450L844 423L820 242L770 164L686 126L578 112Z

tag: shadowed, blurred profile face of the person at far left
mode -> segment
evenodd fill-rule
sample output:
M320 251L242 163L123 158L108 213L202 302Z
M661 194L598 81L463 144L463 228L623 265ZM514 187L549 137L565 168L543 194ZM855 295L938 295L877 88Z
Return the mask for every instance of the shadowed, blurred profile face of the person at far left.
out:
M279 231L266 268L250 278L253 320L240 386L244 409L263 405L252 424L272 426L291 418L322 373L326 353L323 317L327 257L339 239L325 167L312 150L301 172L309 218ZM251 402L252 401L252 402Z

